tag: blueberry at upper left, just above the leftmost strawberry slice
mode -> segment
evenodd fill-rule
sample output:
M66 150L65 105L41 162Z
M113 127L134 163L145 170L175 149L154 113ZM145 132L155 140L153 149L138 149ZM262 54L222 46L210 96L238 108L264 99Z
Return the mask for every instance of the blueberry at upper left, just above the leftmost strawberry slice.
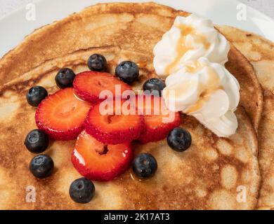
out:
M39 106L46 97L48 97L48 92L41 86L32 87L27 92L27 102L32 106Z

